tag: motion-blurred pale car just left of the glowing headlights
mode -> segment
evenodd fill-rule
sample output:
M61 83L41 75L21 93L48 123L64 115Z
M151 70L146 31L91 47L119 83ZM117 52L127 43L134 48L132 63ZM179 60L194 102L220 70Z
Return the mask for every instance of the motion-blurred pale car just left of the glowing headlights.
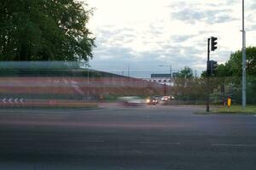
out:
M118 100L120 105L139 106L145 104L145 100L138 96L119 97Z

